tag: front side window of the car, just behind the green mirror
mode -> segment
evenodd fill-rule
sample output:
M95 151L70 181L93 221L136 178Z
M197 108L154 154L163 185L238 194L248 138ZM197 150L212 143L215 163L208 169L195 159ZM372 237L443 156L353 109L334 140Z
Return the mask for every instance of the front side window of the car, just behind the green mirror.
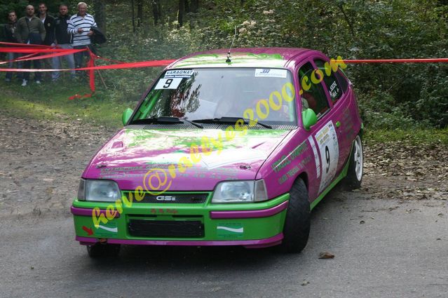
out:
M325 114L330 106L328 105L327 95L323 89L319 74L316 74L310 62L299 69L299 82L304 93L301 95L303 109L313 109L316 116L320 118Z

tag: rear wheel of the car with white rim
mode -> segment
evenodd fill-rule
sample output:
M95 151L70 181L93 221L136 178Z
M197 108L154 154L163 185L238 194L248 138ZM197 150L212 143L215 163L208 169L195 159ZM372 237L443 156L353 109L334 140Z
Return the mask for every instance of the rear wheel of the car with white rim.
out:
M360 135L357 135L353 141L353 148L351 150L350 160L348 161L348 172L344 181L346 190L351 191L361 187L363 161L362 140Z

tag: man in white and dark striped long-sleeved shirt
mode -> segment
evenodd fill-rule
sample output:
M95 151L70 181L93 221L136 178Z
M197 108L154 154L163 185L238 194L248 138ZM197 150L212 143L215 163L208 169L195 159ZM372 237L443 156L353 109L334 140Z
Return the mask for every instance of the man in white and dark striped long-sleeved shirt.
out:
M72 15L69 21L67 32L73 34L73 48L90 48L90 36L93 31L90 29L97 24L92 15L87 13L87 4L79 2L78 14ZM80 68L83 65L83 56L88 55L87 52L74 53L75 67Z

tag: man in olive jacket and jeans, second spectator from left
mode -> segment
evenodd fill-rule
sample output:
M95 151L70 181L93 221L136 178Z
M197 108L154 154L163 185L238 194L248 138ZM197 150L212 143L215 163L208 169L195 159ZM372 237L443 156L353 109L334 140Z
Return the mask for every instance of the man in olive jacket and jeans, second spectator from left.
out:
M28 5L25 8L25 17L22 17L17 22L17 28L15 29L15 38L19 43L28 44L41 44L45 39L45 28L39 18L34 16L34 6ZM39 60L32 60L34 69L41 68L41 62ZM31 61L25 61L23 63L25 69L31 67ZM29 72L23 73L22 86L27 86L29 81ZM41 83L41 74L36 72L34 74L34 81Z

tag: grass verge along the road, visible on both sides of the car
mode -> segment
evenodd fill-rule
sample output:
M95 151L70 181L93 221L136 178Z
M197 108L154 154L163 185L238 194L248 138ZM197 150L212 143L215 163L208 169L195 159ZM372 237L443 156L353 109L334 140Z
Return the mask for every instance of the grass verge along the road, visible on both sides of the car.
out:
M120 128L121 114L135 108L139 98L113 100L113 91L98 90L90 98L69 100L75 94L90 93L88 83L69 79L60 83L30 83L21 87L18 82L0 81L0 110L18 118L51 119L54 121L79 120L93 126ZM386 130L366 127L364 140L372 143L402 142L403 144L448 145L448 128L406 128Z

